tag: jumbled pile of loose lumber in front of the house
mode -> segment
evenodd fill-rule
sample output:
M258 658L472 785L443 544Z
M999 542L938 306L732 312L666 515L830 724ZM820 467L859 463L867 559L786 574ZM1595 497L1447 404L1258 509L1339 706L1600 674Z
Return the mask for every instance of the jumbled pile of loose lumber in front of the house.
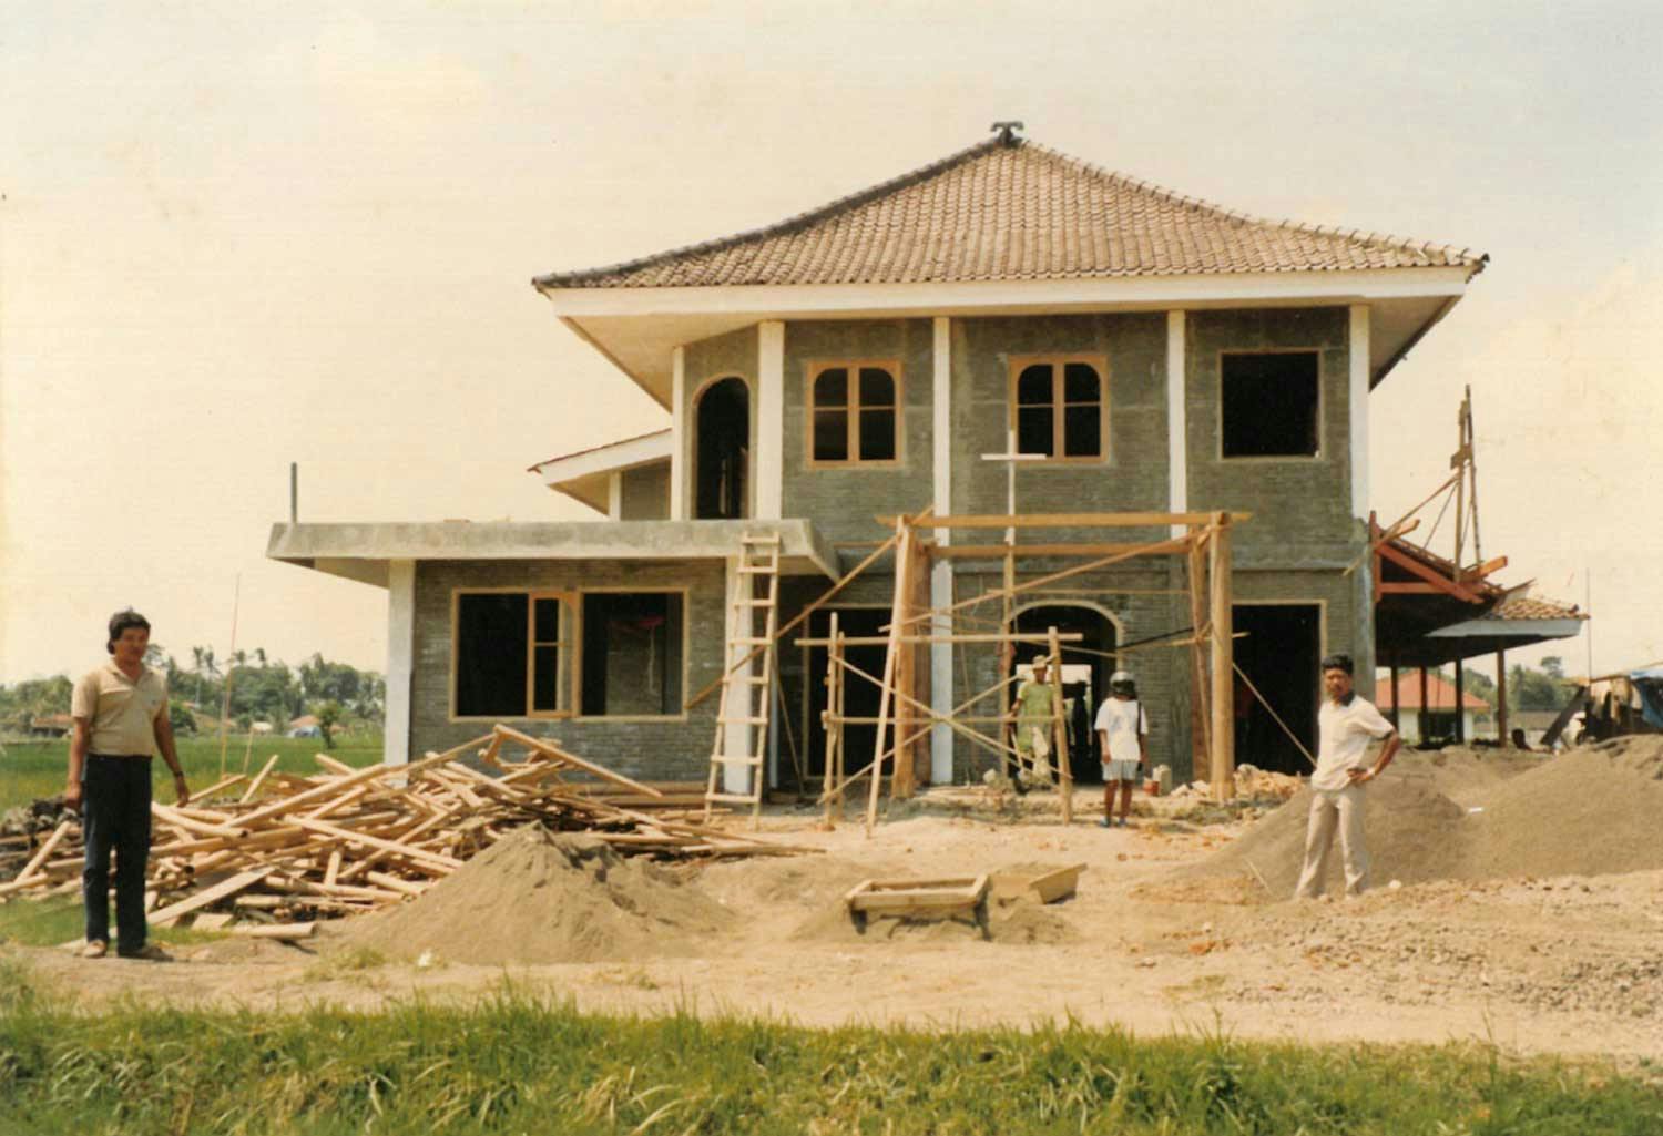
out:
M592 833L620 853L660 860L815 852L695 823L702 797L632 780L506 725L406 765L353 768L319 753L321 772L296 777L274 773L276 760L253 778L201 790L190 805L151 805L151 925L191 918L201 928L304 938L318 918L421 895L526 823ZM80 873L80 825L67 818L0 883L0 901L75 892Z

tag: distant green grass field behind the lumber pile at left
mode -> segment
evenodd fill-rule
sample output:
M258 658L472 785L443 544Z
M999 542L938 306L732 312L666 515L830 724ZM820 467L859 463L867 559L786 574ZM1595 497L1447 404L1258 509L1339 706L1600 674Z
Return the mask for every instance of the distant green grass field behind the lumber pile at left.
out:
M226 740L226 773L243 772L243 753L248 738ZM215 737L180 738L180 765L193 790L208 788L220 780L220 740ZM381 760L381 737L354 737L324 750L323 742L306 737L254 738L248 757L248 773L253 777L276 753L278 768L286 773L316 773L313 753L329 753L348 765L374 765ZM40 797L57 797L70 768L70 743L67 738L50 742L7 742L0 753L0 810L27 805ZM160 757L151 762L151 782L156 800L173 802L173 773Z

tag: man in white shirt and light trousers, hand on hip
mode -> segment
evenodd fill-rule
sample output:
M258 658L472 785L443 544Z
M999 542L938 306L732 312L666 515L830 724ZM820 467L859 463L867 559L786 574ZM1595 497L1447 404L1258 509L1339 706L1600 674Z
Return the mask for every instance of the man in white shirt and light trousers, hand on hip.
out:
M1317 714L1317 768L1310 775L1310 822L1305 827L1305 865L1299 873L1295 898L1322 895L1329 870L1334 828L1340 830L1345 857L1345 895L1369 887L1369 850L1364 847L1364 785L1392 763L1400 738L1374 704L1352 689L1350 655L1322 660L1322 692ZM1384 738L1380 757L1369 765L1369 742Z

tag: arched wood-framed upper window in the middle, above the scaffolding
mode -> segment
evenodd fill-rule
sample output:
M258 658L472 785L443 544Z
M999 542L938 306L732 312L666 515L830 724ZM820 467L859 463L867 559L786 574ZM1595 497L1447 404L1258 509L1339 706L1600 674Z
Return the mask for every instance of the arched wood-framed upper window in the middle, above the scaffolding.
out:
M1108 454L1106 373L1101 356L1011 359L1016 451L1053 461L1101 461Z

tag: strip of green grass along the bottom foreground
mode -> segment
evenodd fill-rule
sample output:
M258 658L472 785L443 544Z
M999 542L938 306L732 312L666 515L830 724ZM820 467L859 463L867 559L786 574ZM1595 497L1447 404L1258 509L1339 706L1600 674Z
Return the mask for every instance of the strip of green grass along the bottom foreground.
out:
M42 1136L1663 1131L1656 1084L1483 1046L605 1018L512 990L376 1015L83 1015L27 975L0 985L0 1131Z

